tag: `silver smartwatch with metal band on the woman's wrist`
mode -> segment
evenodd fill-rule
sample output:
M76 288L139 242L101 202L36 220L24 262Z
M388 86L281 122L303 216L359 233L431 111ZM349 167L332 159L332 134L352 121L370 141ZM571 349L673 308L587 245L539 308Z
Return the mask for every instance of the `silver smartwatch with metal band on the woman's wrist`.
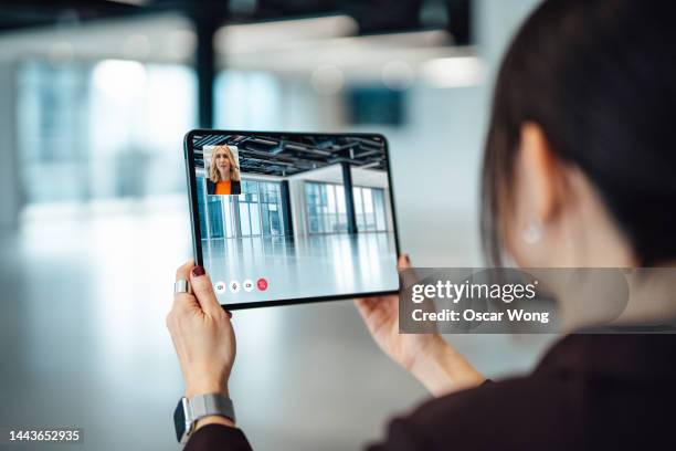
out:
M225 417L234 422L232 400L220 394L196 395L190 399L182 397L173 411L176 439L179 443L186 444L194 431L198 420L211 415Z

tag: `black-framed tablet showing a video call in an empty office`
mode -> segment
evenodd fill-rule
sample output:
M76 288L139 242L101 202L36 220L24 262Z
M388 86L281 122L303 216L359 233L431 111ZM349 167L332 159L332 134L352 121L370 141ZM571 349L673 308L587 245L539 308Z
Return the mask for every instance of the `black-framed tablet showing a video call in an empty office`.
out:
M198 129L184 156L196 264L222 305L398 292L382 135Z

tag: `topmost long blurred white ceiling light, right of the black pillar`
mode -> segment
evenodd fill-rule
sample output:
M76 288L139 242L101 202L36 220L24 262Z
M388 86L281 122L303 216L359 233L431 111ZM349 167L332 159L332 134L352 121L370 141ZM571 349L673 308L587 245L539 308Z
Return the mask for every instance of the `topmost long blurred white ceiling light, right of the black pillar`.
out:
M214 38L222 53L252 52L297 41L342 38L357 34L359 27L349 15L282 20L222 27Z

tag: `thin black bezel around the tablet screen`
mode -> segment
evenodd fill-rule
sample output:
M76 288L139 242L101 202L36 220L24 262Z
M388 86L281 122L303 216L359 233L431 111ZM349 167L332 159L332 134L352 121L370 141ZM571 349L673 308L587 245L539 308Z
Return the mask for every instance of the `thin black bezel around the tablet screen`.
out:
M203 265L202 261L202 240L200 230L200 213L197 196L197 177L194 171L194 153L192 148L193 135L267 135L267 136L336 136L336 137L379 137L384 144L385 160L388 167L388 190L390 192L390 207L392 210L392 227L394 233L394 248L397 255L399 256L399 229L397 227L397 211L394 202L394 190L392 186L392 169L390 164L390 146L388 139L379 133L298 133L298 132L243 132L243 130L218 130L218 129L205 129L197 128L186 134L183 138L183 157L186 160L186 171L188 180L188 202L190 207L190 228L192 233L192 250L194 254L194 262L198 265ZM394 262L395 263L395 262ZM310 302L326 302L326 301L340 301L350 300L356 297L372 297L372 296L384 296L398 294L399 290L392 291L380 291L380 292L367 292L367 293L348 293L348 294L336 294L327 296L313 296L313 297L298 297L288 300L271 300L271 301L256 301L246 302L239 304L221 304L221 306L228 310L245 310L245 308L257 308L257 307L271 307L275 305L292 305L292 304L305 304Z

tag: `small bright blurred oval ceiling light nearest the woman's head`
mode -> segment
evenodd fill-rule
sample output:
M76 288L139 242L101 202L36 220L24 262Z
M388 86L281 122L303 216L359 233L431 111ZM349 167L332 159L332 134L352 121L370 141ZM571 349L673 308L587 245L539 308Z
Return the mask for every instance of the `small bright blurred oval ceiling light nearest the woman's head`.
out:
M435 87L462 87L479 84L484 67L477 56L452 56L426 61L421 72Z

